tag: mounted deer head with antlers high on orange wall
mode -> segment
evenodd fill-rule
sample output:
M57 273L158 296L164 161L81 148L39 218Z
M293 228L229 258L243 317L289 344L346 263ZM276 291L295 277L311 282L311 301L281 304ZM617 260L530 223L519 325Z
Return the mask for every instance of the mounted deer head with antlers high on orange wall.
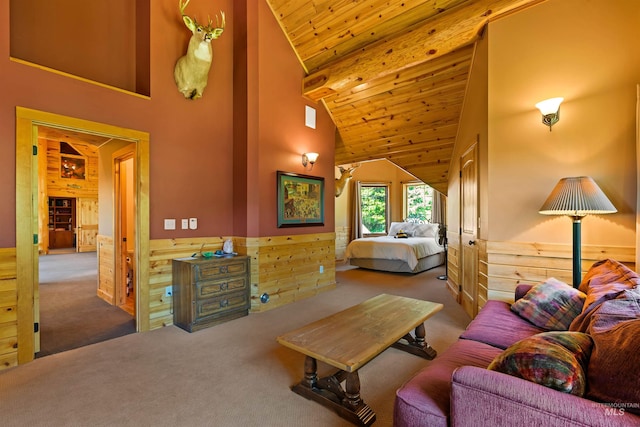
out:
M185 15L184 10L187 8L190 0L178 0L182 20L188 29L191 30L192 36L189 40L187 53L176 62L173 71L173 77L178 86L178 90L182 92L187 99L197 99L202 97L202 92L207 86L209 78L209 69L213 60L213 49L211 48L211 40L217 39L222 35L225 26L224 12L220 11L221 20L216 15L216 26L213 26L211 18L205 27L198 24L195 18Z

